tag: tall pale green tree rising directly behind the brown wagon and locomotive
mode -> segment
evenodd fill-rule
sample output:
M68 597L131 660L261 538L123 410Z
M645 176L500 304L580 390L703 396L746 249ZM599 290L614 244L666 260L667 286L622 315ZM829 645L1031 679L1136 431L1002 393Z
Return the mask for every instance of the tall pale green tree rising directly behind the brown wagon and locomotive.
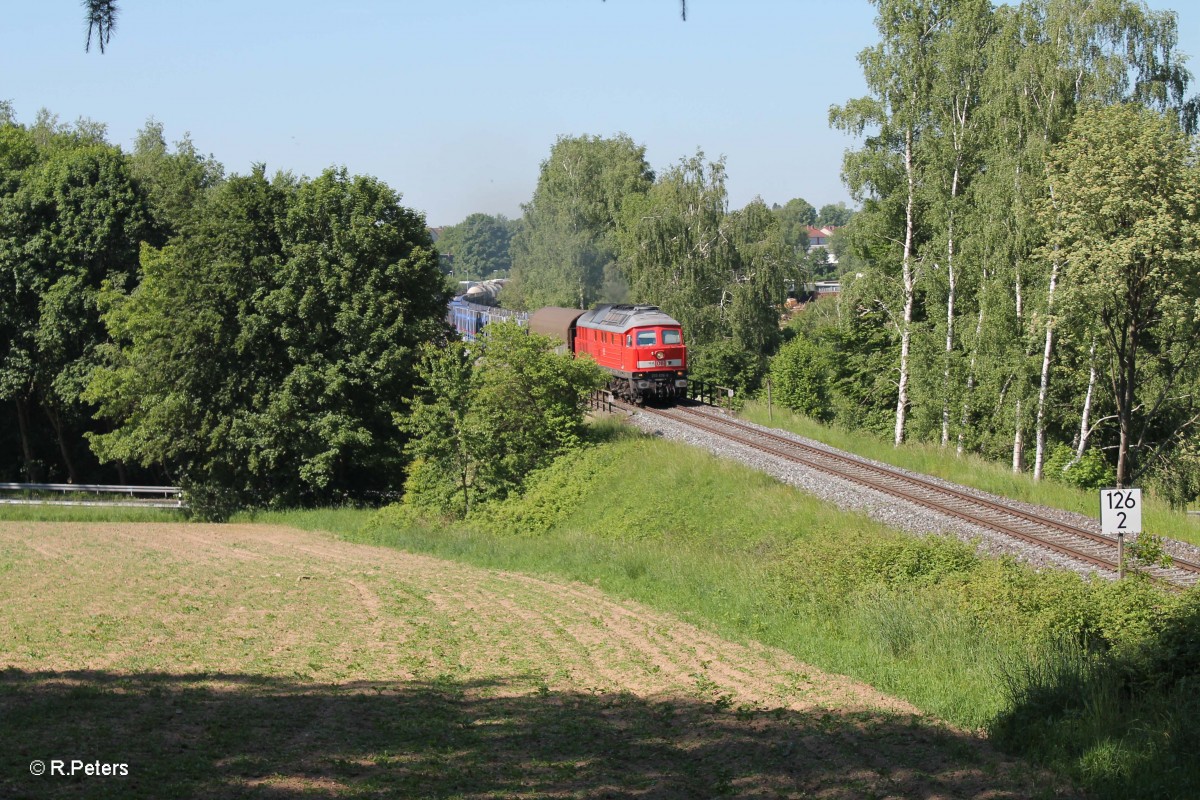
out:
M630 197L654 180L646 148L625 134L559 137L541 164L512 240L512 283L505 302L518 308L588 308L616 276L614 230ZM641 301L642 299L638 297Z

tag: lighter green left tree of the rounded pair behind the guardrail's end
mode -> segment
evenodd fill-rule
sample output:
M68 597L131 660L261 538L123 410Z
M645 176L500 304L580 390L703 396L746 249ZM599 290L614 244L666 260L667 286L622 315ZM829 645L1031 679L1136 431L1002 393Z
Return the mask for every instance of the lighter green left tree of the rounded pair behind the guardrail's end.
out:
M260 306L283 261L289 188L263 173L206 196L190 236L143 247L132 291L108 288L101 300L113 343L88 386L112 425L92 435L97 456L163 470L199 493L211 516L295 486L254 446L253 415L284 363Z

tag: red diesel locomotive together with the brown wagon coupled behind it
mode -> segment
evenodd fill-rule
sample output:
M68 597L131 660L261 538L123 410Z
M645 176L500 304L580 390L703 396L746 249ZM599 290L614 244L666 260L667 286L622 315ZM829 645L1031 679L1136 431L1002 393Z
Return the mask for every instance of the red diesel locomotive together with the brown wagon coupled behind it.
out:
M688 348L679 323L658 306L604 305L592 311L539 308L529 330L566 343L608 371L613 395L644 403L688 393Z

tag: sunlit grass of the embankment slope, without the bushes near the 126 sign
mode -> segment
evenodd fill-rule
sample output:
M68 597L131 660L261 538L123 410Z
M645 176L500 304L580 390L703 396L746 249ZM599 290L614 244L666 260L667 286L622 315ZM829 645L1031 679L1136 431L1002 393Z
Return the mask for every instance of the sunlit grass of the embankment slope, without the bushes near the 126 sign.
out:
M564 487L577 489L581 474L604 477L572 495ZM667 494L684 501L665 501ZM629 439L563 464L500 513L490 529L388 522L386 512L373 524L329 517L320 525L356 541L595 583L727 636L782 646L964 727L980 727L1003 702L996 675L1015 657L1014 643L953 609L930 613L906 600L906 589L853 585L854 565L838 563L856 542L900 549L911 540L738 464ZM313 524L308 515L256 518ZM814 581L845 585L812 591Z

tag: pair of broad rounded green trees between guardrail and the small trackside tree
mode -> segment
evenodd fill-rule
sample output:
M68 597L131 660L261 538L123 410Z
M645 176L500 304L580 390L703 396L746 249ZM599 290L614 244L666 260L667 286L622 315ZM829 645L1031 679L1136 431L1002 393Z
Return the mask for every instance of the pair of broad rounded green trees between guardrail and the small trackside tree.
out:
M94 438L101 456L162 464L232 504L400 487L392 410L448 293L425 221L395 192L344 170L270 182L259 167L142 265L133 293L107 299L119 348L89 389L116 425Z

